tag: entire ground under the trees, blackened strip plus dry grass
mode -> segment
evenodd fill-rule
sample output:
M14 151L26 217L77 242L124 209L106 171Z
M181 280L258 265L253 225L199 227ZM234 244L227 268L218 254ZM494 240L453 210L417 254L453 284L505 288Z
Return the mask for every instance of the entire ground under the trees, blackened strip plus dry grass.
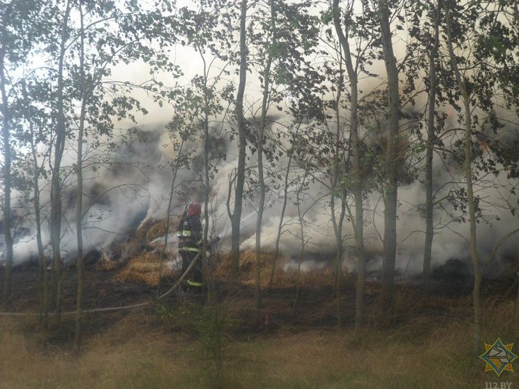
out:
M159 283L164 292L179 276L174 267L164 267L159 282L160 247L150 243L164 234L161 225L144 223L109 250L92 250L85 257L83 309L151 304L84 314L79 356L73 349L72 314L59 325L50 316L46 329L38 326L37 314L0 316L0 388L421 388L453 383L473 388L489 379L472 355L472 285L463 260L437 267L428 290L419 279L402 279L391 312L380 309L380 283L367 282L365 326L356 332L354 274L344 272L338 305L330 267L302 272L296 301L296 272L279 266L272 287L267 286L268 252L262 255L259 315L251 251L242 252L236 284L229 281L228 256L212 260L210 298L176 292L157 301ZM11 311L38 312L37 262L15 267L13 277ZM76 282L69 261L63 312L75 310ZM484 279L486 341L517 339L517 290L513 272ZM26 361L33 365L31 373L22 367Z

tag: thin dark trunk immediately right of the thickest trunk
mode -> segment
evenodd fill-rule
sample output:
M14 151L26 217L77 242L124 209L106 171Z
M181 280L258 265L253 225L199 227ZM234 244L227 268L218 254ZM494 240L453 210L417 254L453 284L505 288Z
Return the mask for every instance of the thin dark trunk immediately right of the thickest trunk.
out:
M436 16L434 18L434 44L429 53L429 102L427 112L427 151L425 156L425 246L424 246L424 265L422 270L424 287L429 287L429 278L431 275L431 258L432 258L432 238L434 236L433 226L433 193L432 193L432 153L434 144L436 143L436 133L434 132L434 112L436 108L436 60L438 56L439 46L439 21L440 11L442 9L442 0L438 1Z

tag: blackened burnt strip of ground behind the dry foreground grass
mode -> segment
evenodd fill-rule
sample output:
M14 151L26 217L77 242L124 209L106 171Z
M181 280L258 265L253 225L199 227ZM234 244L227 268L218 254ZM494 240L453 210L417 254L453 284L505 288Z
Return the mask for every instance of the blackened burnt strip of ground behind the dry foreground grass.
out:
M107 270L91 261L85 267L85 289L83 309L104 307L121 307L128 304L153 301L156 286L145 282L114 282L119 265ZM39 307L38 265L28 262L14 268L13 293L11 311L37 312ZM0 279L3 280L3 269L0 268ZM295 303L295 275L284 274L272 289L262 291L261 317L252 321L255 305L255 287L251 277L245 277L237 285L232 285L223 277L210 282L216 300L232 307L241 325L242 334L252 332L304 331L306 329L331 329L337 324L337 304L333 296L333 277L329 272L306 274L301 277L299 300ZM176 278L163 279L161 292L168 289ZM76 293L75 267L65 267L63 275L63 311L74 311ZM486 279L483 281L483 296L488 299L515 299L517 282L513 277L503 279ZM365 290L366 323L378 326L384 321L378 307L380 284L367 282ZM203 299L203 297L202 297ZM459 282L459 279L435 277L428 291L411 284L397 284L396 307L392 324L405 323L417 316L430 317L432 320L446 318L466 319L471 315L471 284ZM161 306L175 309L186 302L200 302L200 297L191 294L182 296L173 293L160 301ZM294 307L296 304L296 307ZM354 276L345 275L341 289L341 320L343 326L353 326L355 312ZM153 311L151 304L146 311ZM119 321L127 311L86 314L84 319L85 335L99 334ZM65 326L59 331L52 331L51 341L68 342L73 339L73 316L65 316ZM155 321L160 325L160 321Z

